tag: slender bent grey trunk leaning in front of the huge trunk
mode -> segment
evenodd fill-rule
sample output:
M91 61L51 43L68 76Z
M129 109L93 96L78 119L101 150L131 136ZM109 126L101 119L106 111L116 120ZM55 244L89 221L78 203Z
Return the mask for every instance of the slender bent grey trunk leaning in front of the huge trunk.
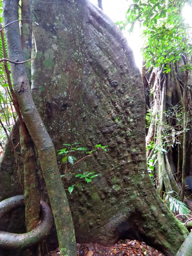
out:
M3 8L5 24L18 19L17 0L12 0L11 2L4 1ZM5 32L9 59L19 62L23 61L18 22L6 26ZM60 255L63 256L66 252L71 256L76 255L73 221L58 172L54 145L33 102L25 64L12 64L11 70L20 112L38 149L41 169L44 174L49 201L55 219Z

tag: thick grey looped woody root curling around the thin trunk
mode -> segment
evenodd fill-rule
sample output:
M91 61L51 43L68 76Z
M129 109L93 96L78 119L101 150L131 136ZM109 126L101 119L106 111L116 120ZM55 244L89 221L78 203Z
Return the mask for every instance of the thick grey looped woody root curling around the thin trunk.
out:
M24 206L24 196L16 195L0 202L0 216ZM20 249L37 244L45 239L52 227L52 212L46 202L41 200L41 214L43 216L40 224L28 233L15 234L0 231L0 247L6 249Z

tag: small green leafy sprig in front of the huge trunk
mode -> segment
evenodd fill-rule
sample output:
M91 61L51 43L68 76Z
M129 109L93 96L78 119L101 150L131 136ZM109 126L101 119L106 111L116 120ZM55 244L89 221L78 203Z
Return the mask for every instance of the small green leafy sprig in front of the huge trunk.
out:
M65 163L65 165L66 165L65 174L61 175L61 177L65 177L67 175L67 173L69 173L68 167L67 167L67 162L70 163L72 166L74 166L76 163L79 163L81 160L84 160L86 157L90 157L90 156L93 156L94 154L99 153L99 149L101 149L104 152L107 152L106 148L108 146L96 144L95 149L88 151L87 148L80 146L81 144L82 143L79 143L79 142L73 143L73 144L64 143L63 145L66 147L57 151L58 155L63 156L62 163ZM76 145L77 145L77 147L75 147ZM74 154L78 154L78 153L84 153L85 156L81 157L79 160L77 160L77 158L74 156ZM84 180L85 182L89 183L93 180L93 178L98 177L98 176L99 175L95 174L95 172L83 172L83 173L78 173L75 177L80 178L81 179L80 181ZM68 191L70 192L70 194L73 192L74 186L76 186L76 184L79 183L80 181L69 186Z

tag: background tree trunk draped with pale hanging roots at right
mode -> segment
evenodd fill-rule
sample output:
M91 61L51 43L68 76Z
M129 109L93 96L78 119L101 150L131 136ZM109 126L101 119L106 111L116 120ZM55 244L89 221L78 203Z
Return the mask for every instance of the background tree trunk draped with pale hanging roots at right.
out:
M151 122L146 137L148 162L153 157L157 161L153 176L159 194L175 191L180 195L182 185L181 201L185 178L191 175L192 155L191 82L188 71L180 71L184 64L170 64L170 73L163 73L163 67L152 72L143 69L144 87L151 89L151 95L145 94Z

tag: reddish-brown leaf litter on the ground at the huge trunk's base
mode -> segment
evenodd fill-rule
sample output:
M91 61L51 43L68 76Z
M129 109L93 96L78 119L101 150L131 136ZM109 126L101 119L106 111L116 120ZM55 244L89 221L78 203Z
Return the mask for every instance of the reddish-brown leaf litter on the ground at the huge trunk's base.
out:
M58 256L56 249L49 253L49 256ZM153 247L144 242L136 240L120 240L113 246L103 246L101 244L77 244L78 256L164 256Z

